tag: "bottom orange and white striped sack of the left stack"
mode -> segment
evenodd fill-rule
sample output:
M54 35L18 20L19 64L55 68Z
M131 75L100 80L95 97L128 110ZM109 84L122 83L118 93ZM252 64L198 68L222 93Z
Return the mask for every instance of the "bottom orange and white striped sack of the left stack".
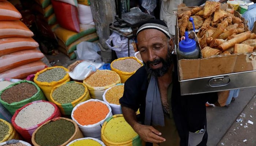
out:
M25 64L25 65L1 72L0 78L23 79L29 76L30 74L37 73L38 71L46 67L47 66L42 61L36 61L36 62Z

